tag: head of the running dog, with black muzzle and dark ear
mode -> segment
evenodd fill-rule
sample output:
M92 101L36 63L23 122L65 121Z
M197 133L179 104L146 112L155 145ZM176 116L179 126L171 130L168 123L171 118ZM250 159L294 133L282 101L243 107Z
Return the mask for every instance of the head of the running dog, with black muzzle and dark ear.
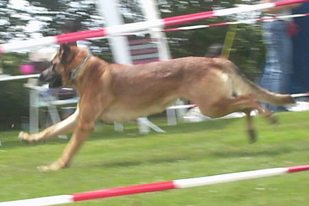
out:
M71 87L73 82L71 72L80 65L88 53L89 51L78 49L76 45L61 45L52 59L51 66L45 69L38 79L42 82L49 82L49 88L62 85Z

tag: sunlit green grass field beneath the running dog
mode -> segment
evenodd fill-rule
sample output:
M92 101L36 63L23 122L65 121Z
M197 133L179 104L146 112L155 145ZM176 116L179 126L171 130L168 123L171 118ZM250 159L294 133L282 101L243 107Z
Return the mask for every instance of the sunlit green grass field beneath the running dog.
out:
M0 201L74 194L111 187L170 181L246 170L309 163L309 112L278 113L269 125L255 117L258 141L248 144L244 119L220 119L166 126L166 134L139 135L135 124L124 133L98 125L71 167L38 172L67 144L25 144L18 131L0 133ZM73 205L308 205L309 172L222 183L182 190L135 194Z

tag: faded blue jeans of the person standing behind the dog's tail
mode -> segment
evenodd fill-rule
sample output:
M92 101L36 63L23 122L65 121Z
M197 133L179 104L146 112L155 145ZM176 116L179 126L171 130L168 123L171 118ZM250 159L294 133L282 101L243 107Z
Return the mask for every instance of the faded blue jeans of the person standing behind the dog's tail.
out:
M266 63L261 86L274 93L290 93L293 73L292 40L287 33L288 22L276 20L263 24ZM265 104L272 111L285 111L283 106Z

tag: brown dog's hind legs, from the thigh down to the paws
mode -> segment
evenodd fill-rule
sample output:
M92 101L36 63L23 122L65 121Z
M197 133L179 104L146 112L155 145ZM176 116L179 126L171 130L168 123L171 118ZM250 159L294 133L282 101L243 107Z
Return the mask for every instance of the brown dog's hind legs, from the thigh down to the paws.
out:
M227 76L216 72L210 74L211 78L195 82L187 91L190 100L198 105L203 115L208 117L217 118L234 112L246 113L249 141L255 141L255 130L250 112L257 109L268 119L271 119L271 115L264 111L251 94L233 98L233 85Z

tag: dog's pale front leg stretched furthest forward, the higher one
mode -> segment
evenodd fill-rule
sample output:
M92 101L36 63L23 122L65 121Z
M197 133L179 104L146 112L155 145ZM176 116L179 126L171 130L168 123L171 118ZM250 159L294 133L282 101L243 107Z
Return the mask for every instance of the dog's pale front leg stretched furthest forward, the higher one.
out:
M30 135L28 133L21 132L19 133L19 139L29 142L47 141L48 139L52 139L53 137L57 137L58 135L65 135L67 133L71 133L78 124L78 115L79 110L77 106L76 111L71 116L67 117L67 119L64 119L61 122L58 122L57 124L46 128L40 133Z

